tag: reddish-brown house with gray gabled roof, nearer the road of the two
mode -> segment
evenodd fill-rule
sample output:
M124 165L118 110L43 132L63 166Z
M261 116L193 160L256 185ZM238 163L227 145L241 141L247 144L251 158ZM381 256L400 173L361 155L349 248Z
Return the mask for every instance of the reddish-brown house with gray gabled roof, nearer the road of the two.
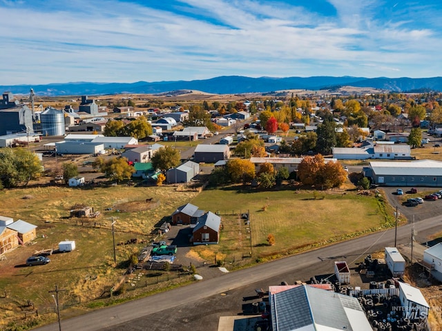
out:
M193 228L193 245L218 243L220 240L221 217L213 212L206 212L198 219Z

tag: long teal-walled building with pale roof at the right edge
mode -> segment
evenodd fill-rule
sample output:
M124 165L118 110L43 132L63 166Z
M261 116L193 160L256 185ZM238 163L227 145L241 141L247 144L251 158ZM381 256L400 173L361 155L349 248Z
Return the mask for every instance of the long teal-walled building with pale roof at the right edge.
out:
M385 186L442 186L442 162L434 160L370 162L366 176Z

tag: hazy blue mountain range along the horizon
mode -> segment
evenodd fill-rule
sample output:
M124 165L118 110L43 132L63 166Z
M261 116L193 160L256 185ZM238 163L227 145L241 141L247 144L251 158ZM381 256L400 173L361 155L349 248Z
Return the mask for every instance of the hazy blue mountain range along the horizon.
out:
M432 78L372 78L364 77L286 77L251 78L243 76L222 76L195 81L157 81L148 83L52 83L47 85L0 86L0 91L14 94L29 94L30 88L35 94L48 97L63 95L103 95L103 94L160 94L175 90L199 90L215 94L238 94L251 92L273 92L280 90L329 90L340 86L358 88L376 88L394 92L441 91L442 77Z

